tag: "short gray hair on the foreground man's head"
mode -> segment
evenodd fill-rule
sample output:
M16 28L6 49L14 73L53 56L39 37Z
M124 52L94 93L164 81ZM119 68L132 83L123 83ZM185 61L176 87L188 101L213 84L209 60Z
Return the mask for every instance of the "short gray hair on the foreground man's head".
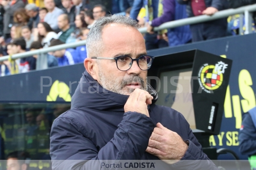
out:
M103 43L102 43L102 30L105 26L111 23L118 23L123 26L131 26L133 28L140 28L136 20L122 15L111 15L109 17L100 17L99 20L90 29L86 40L86 51L88 57L100 56Z

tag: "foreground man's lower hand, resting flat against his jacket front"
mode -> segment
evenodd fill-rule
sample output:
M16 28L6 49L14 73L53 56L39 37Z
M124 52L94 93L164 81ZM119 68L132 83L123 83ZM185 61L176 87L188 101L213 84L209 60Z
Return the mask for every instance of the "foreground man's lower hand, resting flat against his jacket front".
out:
M172 130L157 123L148 142L146 152L157 156L168 164L179 161L186 153L188 145Z

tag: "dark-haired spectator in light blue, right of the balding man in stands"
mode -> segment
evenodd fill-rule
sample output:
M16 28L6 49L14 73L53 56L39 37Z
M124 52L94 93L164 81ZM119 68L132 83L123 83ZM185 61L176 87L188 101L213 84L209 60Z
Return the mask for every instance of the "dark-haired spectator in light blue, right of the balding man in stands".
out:
M80 37L81 29L87 27L87 24L84 21L84 14L79 14L76 16L75 24L76 29L67 38L66 43L76 42L76 40Z

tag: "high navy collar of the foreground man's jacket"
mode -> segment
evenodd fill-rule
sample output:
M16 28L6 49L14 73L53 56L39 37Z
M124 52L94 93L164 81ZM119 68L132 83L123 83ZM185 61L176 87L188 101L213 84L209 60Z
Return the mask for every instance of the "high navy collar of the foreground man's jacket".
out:
M157 101L157 92L148 84L148 92ZM96 110L122 111L129 96L104 89L91 75L84 71L71 99L71 109L91 108Z

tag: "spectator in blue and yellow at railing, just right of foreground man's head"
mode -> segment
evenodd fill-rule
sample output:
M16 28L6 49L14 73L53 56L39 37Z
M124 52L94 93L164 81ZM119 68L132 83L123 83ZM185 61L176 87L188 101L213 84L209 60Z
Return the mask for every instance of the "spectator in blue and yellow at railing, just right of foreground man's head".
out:
M150 4L151 2L151 4ZM138 14L143 6L145 6L146 11L146 24L151 24L152 20L158 17L158 14L161 14L161 11L158 11L158 6L161 6L161 1L158 0L135 0L133 7L131 9L130 17L134 20L137 19ZM168 42L163 39L162 32L158 34L157 32L148 32L145 34L145 45L147 50L152 50L156 48L168 47Z

